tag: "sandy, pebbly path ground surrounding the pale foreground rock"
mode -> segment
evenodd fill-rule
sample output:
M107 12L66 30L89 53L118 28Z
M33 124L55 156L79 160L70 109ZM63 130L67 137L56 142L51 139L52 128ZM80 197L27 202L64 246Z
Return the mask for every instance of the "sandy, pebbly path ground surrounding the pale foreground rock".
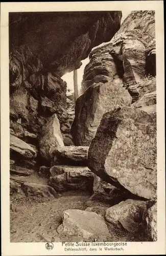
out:
M62 212L66 209L82 209L89 195L80 191L68 191L58 199L21 199L15 202L23 212L11 210L11 242L62 242L78 241L77 238L60 236L56 229L61 224ZM38 200L38 201L37 201ZM106 241L141 241L132 234L108 225L110 236ZM136 239L136 240L135 240ZM145 241L143 239L143 241Z

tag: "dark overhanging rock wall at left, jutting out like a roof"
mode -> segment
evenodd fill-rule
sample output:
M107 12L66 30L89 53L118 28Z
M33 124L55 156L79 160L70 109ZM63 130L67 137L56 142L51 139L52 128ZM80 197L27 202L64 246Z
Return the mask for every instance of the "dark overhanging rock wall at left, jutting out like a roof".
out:
M64 134L70 122L61 76L80 68L94 46L109 41L121 17L121 11L10 13L11 134L37 145L39 157L50 158L43 145L48 118L56 114ZM72 141L63 139L65 145ZM55 146L53 141L48 143Z

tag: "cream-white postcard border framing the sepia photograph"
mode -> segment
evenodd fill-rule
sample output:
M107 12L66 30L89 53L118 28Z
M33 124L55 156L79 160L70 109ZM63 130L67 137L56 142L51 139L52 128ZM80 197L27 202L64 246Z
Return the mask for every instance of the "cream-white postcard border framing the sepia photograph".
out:
M48 2L1 3L1 167L2 167L2 255L99 255L99 252L66 252L61 243L45 249L45 243L10 243L9 235L9 12L30 11L115 11L155 10L157 63L157 166L158 166L158 240L157 242L128 242L124 251L102 251L109 254L165 254L165 161L164 161L164 29L163 1L125 2Z

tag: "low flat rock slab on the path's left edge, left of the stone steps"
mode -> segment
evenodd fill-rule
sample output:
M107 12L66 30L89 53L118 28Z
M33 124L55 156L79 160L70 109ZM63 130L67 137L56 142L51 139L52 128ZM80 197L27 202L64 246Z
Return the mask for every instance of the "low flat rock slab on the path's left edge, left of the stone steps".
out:
M21 188L27 197L59 197L53 187L44 184L25 182Z

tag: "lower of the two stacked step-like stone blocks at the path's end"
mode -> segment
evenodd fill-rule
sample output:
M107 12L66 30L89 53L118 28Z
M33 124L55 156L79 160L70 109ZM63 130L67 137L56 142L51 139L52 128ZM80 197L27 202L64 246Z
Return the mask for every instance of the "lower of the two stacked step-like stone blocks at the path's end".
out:
M50 173L50 182L57 191L92 190L93 173L88 167L55 165Z

